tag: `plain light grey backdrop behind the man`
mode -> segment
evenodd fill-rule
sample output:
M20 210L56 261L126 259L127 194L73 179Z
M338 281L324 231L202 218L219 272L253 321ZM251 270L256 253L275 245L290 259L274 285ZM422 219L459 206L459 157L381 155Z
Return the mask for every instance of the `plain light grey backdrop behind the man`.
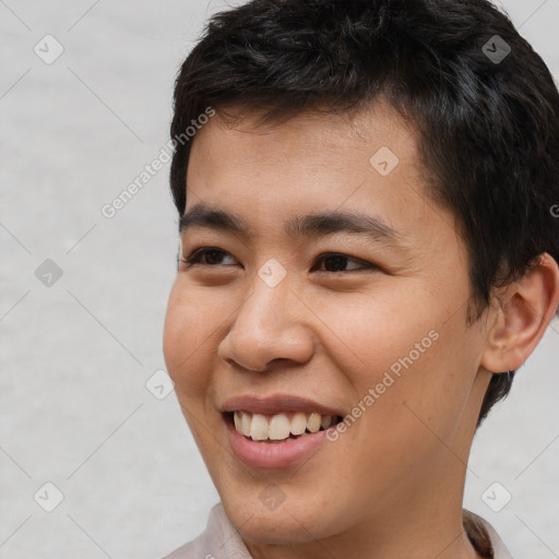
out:
M503 4L557 79L559 0ZM175 393L145 386L176 265L168 164L100 209L165 146L178 67L225 5L0 0L1 558L162 557L218 500ZM64 48L51 64L34 52L47 34ZM50 287L46 259L63 272ZM559 557L558 342L555 321L471 461L465 504L519 558ZM481 498L496 481L500 512Z

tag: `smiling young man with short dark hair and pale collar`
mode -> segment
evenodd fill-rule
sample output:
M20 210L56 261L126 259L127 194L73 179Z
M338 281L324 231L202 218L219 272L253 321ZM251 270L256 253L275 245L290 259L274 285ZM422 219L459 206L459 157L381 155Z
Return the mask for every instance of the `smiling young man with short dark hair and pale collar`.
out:
M462 499L558 310L542 59L485 0L253 0L171 136L164 352L221 503L168 557L510 557Z

